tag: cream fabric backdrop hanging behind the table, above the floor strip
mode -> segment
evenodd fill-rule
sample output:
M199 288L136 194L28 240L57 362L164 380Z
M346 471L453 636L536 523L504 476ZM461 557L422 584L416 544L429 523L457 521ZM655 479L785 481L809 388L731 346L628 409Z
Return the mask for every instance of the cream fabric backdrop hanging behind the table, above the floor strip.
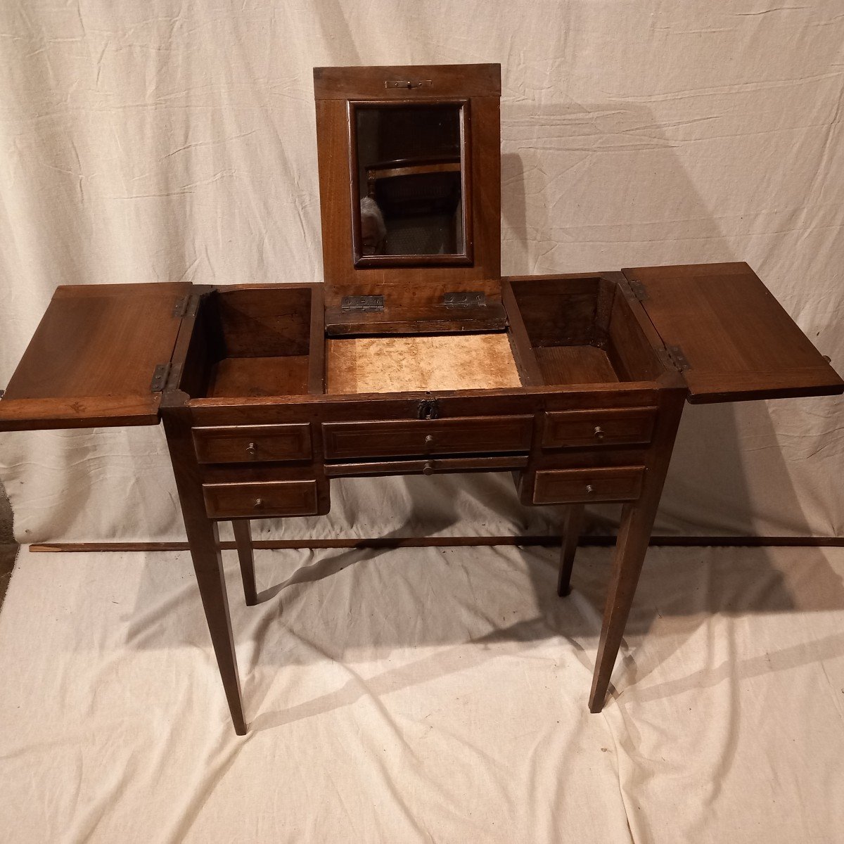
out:
M743 259L844 362L840 0L6 0L0 49L0 382L57 284L321 280L311 68L403 62L502 65L505 273ZM841 407L687 408L658 527L841 535ZM181 534L160 430L0 459L22 541ZM335 484L284 529L548 527L506 483Z

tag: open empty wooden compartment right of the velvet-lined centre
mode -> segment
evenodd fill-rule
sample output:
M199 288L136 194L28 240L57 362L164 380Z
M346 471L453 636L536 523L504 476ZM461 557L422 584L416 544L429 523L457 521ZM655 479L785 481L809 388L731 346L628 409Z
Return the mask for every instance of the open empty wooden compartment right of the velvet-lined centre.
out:
M612 279L511 279L518 317L546 385L652 381L657 354ZM511 318L511 322L513 322Z

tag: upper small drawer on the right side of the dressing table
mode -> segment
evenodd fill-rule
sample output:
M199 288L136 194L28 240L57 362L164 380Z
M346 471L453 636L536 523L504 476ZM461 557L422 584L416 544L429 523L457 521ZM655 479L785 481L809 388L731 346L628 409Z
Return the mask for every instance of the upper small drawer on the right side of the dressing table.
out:
M545 414L543 448L623 446L651 441L657 408L561 410Z

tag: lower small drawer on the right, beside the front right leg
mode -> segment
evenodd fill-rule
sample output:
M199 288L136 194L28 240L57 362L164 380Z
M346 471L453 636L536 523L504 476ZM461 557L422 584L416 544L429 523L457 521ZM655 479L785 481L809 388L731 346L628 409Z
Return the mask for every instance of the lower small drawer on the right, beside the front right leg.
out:
M540 469L533 485L533 503L633 501L641 494L644 477L644 466Z

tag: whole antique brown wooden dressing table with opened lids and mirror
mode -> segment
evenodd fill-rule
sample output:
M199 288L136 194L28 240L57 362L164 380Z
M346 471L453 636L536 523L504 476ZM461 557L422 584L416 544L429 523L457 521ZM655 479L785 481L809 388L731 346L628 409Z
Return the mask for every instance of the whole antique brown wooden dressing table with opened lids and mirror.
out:
M498 65L314 89L325 284L59 287L0 430L163 421L241 734L218 521L252 604L250 519L327 513L333 478L511 471L523 504L567 508L565 595L584 505L622 502L600 711L684 401L844 382L744 263L502 278Z

